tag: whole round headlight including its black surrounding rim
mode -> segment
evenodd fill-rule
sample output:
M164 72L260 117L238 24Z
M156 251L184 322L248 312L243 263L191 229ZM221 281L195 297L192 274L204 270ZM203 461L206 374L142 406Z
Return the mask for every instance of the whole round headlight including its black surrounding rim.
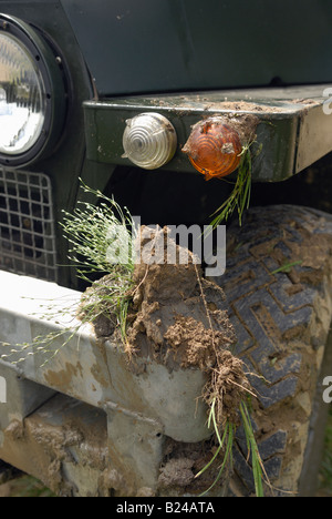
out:
M0 14L0 163L25 165L54 146L66 104L59 61L30 26Z

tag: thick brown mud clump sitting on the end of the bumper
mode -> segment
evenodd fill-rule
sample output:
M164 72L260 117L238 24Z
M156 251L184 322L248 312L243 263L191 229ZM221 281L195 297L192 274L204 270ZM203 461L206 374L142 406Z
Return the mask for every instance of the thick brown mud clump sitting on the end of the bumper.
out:
M134 272L127 342L136 355L163 363L170 370L210 368L216 363L215 348L229 348L236 340L224 307L224 291L203 277L198 260L169 238L167 227L153 233L149 254L164 251L176 262L144 262L147 230L143 227L143 261Z

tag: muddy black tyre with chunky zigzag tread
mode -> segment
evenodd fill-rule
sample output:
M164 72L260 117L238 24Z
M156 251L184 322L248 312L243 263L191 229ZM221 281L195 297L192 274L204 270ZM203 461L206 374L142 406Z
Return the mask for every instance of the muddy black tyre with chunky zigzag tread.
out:
M252 208L228 230L227 295L236 355L258 395L252 421L277 496L313 496L332 375L332 217L294 206ZM238 430L229 495L253 493Z

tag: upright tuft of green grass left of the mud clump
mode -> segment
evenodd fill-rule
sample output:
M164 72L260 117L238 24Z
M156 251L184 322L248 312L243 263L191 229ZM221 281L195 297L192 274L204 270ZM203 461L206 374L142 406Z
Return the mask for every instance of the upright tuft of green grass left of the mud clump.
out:
M134 287L136 230L129 212L100 191L83 184L83 190L100 200L98 205L79 203L64 212L62 227L71 245L69 258L77 266L77 276L104 276L94 282L81 299L79 317L93 323L107 314L115 317L125 342L127 309Z

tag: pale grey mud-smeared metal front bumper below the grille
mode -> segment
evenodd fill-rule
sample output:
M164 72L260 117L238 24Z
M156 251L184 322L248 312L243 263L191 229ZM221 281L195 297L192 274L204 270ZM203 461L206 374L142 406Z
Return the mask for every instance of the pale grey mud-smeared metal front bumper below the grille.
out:
M8 343L0 347L9 355L0 359L0 459L58 493L136 496L156 490L167 437L209 437L201 372L169 373L147 358L131 368L120 344L97 342L86 328L62 347L81 294L1 271L0 284L0 340ZM50 332L60 336L46 355L31 346Z

